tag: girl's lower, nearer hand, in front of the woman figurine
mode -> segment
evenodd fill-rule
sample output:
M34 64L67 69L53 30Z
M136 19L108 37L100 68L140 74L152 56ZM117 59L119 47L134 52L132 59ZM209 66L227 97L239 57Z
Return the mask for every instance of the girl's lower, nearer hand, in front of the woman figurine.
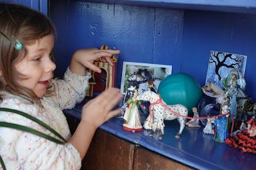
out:
M98 97L83 105L81 121L98 128L105 121L123 112L121 108L112 110L122 98L123 95L119 89L108 88Z

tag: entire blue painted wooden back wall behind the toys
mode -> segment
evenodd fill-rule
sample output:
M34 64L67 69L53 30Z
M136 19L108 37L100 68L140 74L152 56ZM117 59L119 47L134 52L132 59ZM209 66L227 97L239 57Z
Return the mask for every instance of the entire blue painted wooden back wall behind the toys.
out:
M120 49L117 86L123 61L173 65L205 84L210 50L248 56L246 92L256 100L256 16L253 14L174 10L86 1L51 1L50 17L58 30L56 75L73 52L107 44Z

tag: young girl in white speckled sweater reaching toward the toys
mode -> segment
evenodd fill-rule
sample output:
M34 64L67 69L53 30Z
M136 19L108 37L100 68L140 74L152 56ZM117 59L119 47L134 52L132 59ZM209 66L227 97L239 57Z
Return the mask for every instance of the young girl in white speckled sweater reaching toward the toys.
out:
M96 128L121 112L112 109L122 95L119 89L109 88L84 105L73 136L62 110L74 107L85 97L90 78L86 68L100 72L94 60L101 58L111 64L109 57L119 54L119 50L78 50L64 79L57 80L53 79L56 66L51 55L55 29L46 16L24 6L0 3L0 31L0 107L26 112L67 140L56 144L38 135L0 127L0 155L6 169L80 169ZM1 111L0 122L56 137L12 112Z

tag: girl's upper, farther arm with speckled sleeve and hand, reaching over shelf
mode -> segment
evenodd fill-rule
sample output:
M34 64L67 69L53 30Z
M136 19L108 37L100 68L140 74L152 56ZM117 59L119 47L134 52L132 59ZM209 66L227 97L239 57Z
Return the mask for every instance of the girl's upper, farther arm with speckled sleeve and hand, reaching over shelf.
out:
M64 80L54 80L55 95L54 102L62 109L71 109L75 104L85 98L85 93L89 87L90 73L86 68L100 72L101 69L94 65L94 61L101 58L112 64L109 56L118 54L119 50L98 50L82 49L74 53L71 65L65 72Z

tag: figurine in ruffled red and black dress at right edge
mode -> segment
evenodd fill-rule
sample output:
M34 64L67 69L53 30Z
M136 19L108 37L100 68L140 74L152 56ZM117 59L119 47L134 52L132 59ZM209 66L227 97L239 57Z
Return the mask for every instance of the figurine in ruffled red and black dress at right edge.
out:
M256 154L256 125L255 114L246 121L248 128L228 137L225 143L246 153Z

